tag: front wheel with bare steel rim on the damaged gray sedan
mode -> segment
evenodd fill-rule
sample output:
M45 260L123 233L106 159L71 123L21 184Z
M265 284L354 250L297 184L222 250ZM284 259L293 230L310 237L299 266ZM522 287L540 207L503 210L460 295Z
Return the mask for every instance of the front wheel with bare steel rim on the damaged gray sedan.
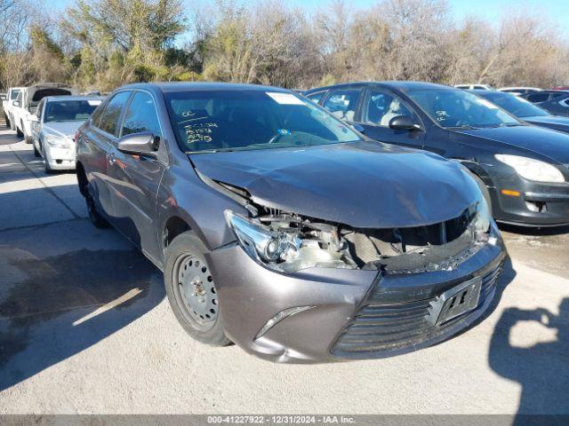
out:
M194 233L180 233L166 249L164 286L172 311L188 335L212 346L225 346L231 341L223 331L217 292L204 257L206 251L204 243ZM185 272L187 276L180 278L180 274ZM201 277L206 279L201 280ZM182 280L183 283L180 282ZM194 284L194 281L197 284ZM188 286L194 286L194 295L188 296L188 291L191 291ZM196 306L200 304L200 301L196 300L200 296L206 299L201 301L205 308L213 306L211 317L208 313L202 315L202 306ZM188 301L188 298L191 300Z

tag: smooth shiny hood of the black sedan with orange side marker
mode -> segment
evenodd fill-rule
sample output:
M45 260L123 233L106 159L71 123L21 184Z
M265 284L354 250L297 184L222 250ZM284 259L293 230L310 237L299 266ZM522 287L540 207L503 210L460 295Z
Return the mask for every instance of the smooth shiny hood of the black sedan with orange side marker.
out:
M559 164L569 163L569 135L538 126L495 127L490 129L455 130L463 135L496 142L493 151L500 153L500 146L522 148L541 157L548 157ZM469 143L469 141L465 141ZM504 154L515 154L511 152ZM520 153L523 155L524 153Z

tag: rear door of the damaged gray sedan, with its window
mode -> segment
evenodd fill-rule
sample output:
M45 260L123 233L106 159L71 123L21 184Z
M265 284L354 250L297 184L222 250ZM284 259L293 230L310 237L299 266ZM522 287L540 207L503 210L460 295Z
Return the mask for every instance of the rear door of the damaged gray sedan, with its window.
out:
M109 187L108 162L111 161L118 123L124 108L131 97L132 91L119 91L108 103L93 114L89 125L84 131L84 144L81 156L84 159L84 169L92 186L93 199L104 211L109 220L113 221L113 194Z

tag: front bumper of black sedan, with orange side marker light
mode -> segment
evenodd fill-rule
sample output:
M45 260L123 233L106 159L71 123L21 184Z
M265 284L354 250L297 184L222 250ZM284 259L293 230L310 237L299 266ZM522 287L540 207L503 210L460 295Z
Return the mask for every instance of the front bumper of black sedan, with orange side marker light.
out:
M569 224L569 184L542 184L525 180L517 174L497 179L493 194L496 220L522 226L558 226ZM519 196L506 195L515 191Z

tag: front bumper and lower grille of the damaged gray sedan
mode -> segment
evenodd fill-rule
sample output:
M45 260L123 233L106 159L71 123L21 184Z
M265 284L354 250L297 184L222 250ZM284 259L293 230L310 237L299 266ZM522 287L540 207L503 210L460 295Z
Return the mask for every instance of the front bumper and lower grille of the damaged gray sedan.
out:
M309 268L283 274L258 264L236 244L212 251L207 261L225 332L245 351L296 363L382 358L441 342L485 312L506 256L499 234L493 233L495 244L485 244L453 271ZM430 325L425 318L429 301L477 276L485 277L477 308L441 326ZM305 309L259 335L270 319L292 308ZM373 325L366 328L370 318Z

